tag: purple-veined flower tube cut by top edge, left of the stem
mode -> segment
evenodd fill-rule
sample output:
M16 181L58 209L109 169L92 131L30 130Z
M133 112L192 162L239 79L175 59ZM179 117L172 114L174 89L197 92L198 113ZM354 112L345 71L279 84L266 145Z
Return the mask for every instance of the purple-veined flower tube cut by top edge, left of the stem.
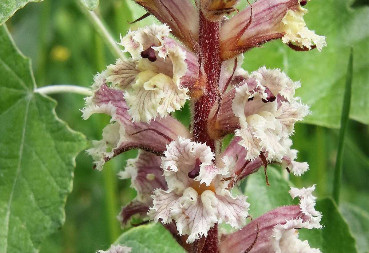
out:
M194 50L199 40L199 13L190 0L134 0L163 24L168 24L187 47Z

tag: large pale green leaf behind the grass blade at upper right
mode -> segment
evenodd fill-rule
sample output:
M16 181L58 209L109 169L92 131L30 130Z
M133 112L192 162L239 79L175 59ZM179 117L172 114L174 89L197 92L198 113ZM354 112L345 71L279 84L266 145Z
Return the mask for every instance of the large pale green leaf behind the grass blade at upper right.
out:
M326 36L321 52L296 52L281 41L245 53L244 67L282 68L294 81L301 80L296 94L311 105L304 123L339 128L345 75L350 48L356 53L353 68L350 118L369 124L369 6L351 8L352 0L309 1L304 16L307 27Z

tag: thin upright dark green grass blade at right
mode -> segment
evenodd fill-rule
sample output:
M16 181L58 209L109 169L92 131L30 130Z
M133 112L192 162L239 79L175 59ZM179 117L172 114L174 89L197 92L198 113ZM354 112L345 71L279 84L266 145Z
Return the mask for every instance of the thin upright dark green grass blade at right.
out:
M333 181L333 199L336 201L337 205L339 203L339 191L341 189L344 138L348 124L348 117L351 104L351 86L352 86L352 68L353 68L352 66L353 66L353 49L351 48L351 53L347 67L344 103L342 106L342 116L341 116L341 129L339 130L337 160Z

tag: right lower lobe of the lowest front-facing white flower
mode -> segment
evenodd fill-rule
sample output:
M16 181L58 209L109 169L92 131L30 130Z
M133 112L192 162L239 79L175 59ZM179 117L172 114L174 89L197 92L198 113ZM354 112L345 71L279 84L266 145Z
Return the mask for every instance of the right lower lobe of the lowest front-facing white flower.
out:
M248 217L250 204L246 202L247 197L233 197L226 189L217 191L217 217L218 223L230 224L232 227L240 229L245 225Z

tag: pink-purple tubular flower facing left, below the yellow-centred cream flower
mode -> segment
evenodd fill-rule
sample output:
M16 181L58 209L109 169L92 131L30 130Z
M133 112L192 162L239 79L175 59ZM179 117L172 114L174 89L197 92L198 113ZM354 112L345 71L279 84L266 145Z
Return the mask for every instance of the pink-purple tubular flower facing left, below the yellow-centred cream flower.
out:
M150 124L133 123L127 112L129 107L123 92L108 88L101 75L95 78L92 86L94 95L86 99L86 107L83 109L84 119L93 113L111 116L111 124L103 131L103 140L93 141L94 147L87 150L95 159L97 169L101 170L107 160L132 148L162 154L170 140L177 136L190 136L183 124L170 116L166 119L157 118Z

